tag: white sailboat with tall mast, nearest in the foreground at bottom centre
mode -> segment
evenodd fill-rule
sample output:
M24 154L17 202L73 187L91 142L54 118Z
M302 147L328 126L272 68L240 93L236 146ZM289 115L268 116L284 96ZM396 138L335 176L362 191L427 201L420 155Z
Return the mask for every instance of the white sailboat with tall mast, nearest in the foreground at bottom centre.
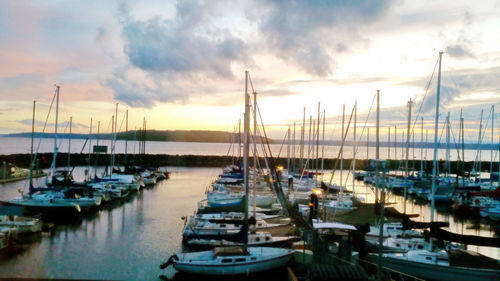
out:
M245 142L243 146L243 167L245 196L244 227L248 227L248 155L250 96L248 94L248 71L245 71ZM285 266L293 255L293 250L271 247L248 247L247 231L244 246L216 247L211 251L174 254L160 268L173 264L176 270L204 275L239 275L267 271Z

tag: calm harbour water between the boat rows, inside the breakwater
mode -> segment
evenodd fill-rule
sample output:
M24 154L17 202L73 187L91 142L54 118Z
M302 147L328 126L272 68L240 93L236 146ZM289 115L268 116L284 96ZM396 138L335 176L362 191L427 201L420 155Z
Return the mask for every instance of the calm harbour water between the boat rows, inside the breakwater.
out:
M75 175L83 177L77 167ZM174 271L159 269L159 264L180 251L181 216L192 214L205 188L219 174L219 168L168 167L171 179L145 189L128 202L104 209L72 225L59 225L53 234L27 245L17 255L0 260L1 277L86 278L122 280L158 280L160 274L171 277ZM344 171L345 180L347 173ZM329 178L330 175L325 175ZM338 181L337 173L334 181ZM38 179L43 182L43 179ZM0 198L17 196L26 182L0 185ZM349 183L348 189L352 186ZM356 182L356 192L372 202L369 187ZM403 199L390 196L389 201L402 211ZM408 202L408 212L421 214L417 220L428 221L430 208ZM450 222L450 230L460 234L492 237L485 221L459 221L436 212L436 219ZM481 222L483 224L481 224ZM469 247L491 257L500 258L496 248Z

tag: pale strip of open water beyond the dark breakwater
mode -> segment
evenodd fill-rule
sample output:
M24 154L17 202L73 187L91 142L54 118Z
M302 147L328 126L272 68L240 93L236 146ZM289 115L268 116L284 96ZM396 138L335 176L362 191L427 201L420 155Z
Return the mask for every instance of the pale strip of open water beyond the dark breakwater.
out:
M39 145L38 152L53 152L54 151L54 140L53 139L36 139L34 142L35 151ZM72 153L80 153L83 149L83 153L88 151L88 143L84 147L85 140L83 139L74 139L71 140L71 152ZM31 139L30 138L10 138L10 137L0 137L0 155L1 154L16 154L16 153L29 153ZM92 145L95 145L96 141L92 141ZM107 145L108 151L110 149L110 141L109 140L101 140L99 145ZM68 140L67 139L59 139L58 147L60 152L68 151ZM287 156L287 146L283 146L281 144L271 144L271 150L273 156L277 156L280 154L281 157ZM237 145L236 145L237 147ZM457 150L454 149L454 145L451 145L452 149L450 151L450 159L457 159ZM137 141L128 141L127 142L127 151L128 153L136 153L139 148L139 142ZM326 158L336 158L339 151L339 146L325 146L324 155ZM260 149L260 148L259 148ZM281 153L280 153L281 150ZM293 151L293 148L290 148ZM299 156L299 146L295 146L296 156ZM124 153L125 152L125 141L117 141L116 144L116 152ZM170 155L237 155L237 148L231 146L229 143L199 143L199 142L157 142L157 141L148 141L146 142L146 153L148 154L170 154ZM374 159L375 158L375 148L370 147L369 149L361 144L357 149L356 158L357 159ZM382 159L406 159L406 151L405 148L394 147L389 148L381 147L380 148L380 156ZM293 152L290 152L293 155ZM322 155L322 147L319 149L319 154ZM353 149L352 147L345 147L344 149L344 158L352 158ZM421 157L422 155L422 157ZM490 161L491 153L489 150L483 150L481 153L477 153L476 150L465 150L465 160L466 161L474 161L476 159L482 159L483 161ZM368 157L367 157L368 156ZM424 149L421 150L418 147L410 148L409 151L409 159L420 160L428 159L432 160L433 151L432 149ZM307 148L304 149L304 157L307 157ZM461 156L460 156L461 157ZM494 161L498 161L498 151L493 151L493 158L496 159ZM438 159L446 159L446 150L440 149L438 151Z

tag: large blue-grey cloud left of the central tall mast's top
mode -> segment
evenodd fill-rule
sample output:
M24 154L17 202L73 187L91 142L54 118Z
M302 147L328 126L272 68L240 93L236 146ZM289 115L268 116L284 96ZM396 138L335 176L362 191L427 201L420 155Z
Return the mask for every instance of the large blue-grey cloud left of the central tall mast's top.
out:
M116 69L103 84L116 99L150 108L156 102L186 101L189 95L202 93L204 82L233 79L231 66L248 61L248 46L213 24L214 6L184 1L176 6L173 19L142 21L132 19L122 6L128 65Z

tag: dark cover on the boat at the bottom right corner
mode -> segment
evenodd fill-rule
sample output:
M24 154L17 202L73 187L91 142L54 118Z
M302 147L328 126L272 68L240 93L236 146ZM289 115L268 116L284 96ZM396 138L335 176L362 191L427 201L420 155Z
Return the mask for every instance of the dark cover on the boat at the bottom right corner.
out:
M448 257L450 259L451 266L500 270L500 263L497 259L481 255L477 252L466 250L449 250Z

